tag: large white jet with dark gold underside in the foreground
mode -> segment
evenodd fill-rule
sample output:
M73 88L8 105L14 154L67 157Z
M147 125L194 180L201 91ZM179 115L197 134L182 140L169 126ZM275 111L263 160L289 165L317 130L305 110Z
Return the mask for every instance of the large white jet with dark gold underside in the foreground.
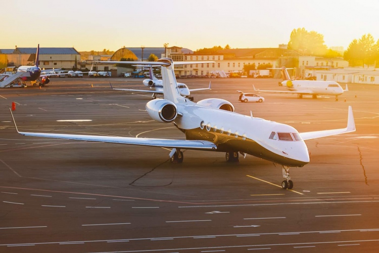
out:
M194 103L180 95L172 59L162 58L149 64L161 65L165 99L149 101L146 110L158 122L173 123L186 140L19 132L15 123L16 131L32 137L171 148L169 157L178 163L183 161L181 149L225 152L227 161L238 161L239 153L244 157L250 154L282 165L283 189L294 186L290 166L302 167L309 162L305 140L355 131L351 106L346 128L299 133L287 124L253 117L252 113L250 116L236 113L234 106L223 99L209 98Z

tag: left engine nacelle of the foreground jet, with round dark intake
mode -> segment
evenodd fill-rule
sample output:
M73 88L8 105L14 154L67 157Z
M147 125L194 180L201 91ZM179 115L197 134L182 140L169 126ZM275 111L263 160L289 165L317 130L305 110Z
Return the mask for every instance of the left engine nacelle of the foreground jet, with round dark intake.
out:
M146 104L150 117L158 122L169 123L178 115L176 105L167 99L154 99Z

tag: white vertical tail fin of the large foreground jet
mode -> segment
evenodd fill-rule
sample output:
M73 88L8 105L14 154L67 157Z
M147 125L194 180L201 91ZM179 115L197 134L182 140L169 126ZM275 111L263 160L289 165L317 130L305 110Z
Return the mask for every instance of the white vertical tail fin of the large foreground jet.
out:
M158 62L168 63L170 65L162 65L162 82L163 82L163 95L164 98L170 100L171 102L177 104L179 101L185 101L185 99L180 96L177 82L174 72L174 62L170 58L159 59Z

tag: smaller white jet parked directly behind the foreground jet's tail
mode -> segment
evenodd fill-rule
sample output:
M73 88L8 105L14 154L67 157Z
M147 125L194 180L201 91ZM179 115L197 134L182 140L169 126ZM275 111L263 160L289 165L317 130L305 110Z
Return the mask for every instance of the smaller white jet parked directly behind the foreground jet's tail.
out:
M109 63L109 61L107 63ZM176 63L174 62L174 64L176 64ZM119 88L113 88L111 85L113 90L153 93L152 99L156 99L157 95L159 95L159 94L163 95L163 81L154 76L152 65L139 65L138 64L138 65L133 65L133 66L140 66L140 67L148 67L149 68L149 77L150 78L145 79L142 82L144 83L144 85L146 87L150 87L150 90L119 89ZM191 92L211 90L211 82L209 82L208 88L200 88L200 89L188 89L188 87L184 83L181 83L181 82L178 82L177 85L178 85L178 90L179 90L180 95L184 98L188 98L191 101L194 100L194 97L191 97Z

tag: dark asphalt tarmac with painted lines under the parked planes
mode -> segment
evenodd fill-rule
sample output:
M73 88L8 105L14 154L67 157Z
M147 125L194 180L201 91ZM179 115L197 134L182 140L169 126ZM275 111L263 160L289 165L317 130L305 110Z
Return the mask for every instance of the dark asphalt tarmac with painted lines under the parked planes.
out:
M48 86L0 90L0 252L377 252L379 251L379 86L349 84L335 101L236 90L282 90L278 79L178 79L195 102L222 98L235 111L299 132L354 133L306 141L310 163L291 168L254 156L227 163L219 152L169 150L24 137L55 132L183 139L145 111L142 79L51 78ZM345 87L345 83L340 83Z

